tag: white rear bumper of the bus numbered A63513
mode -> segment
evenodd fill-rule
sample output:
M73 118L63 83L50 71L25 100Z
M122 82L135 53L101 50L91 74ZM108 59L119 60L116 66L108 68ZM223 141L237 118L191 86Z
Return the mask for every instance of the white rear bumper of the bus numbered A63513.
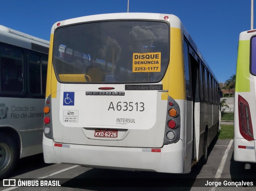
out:
M184 144L164 145L160 149L124 148L63 144L43 138L46 163L68 163L96 168L157 171L165 173L184 172ZM153 152L152 152L153 151Z

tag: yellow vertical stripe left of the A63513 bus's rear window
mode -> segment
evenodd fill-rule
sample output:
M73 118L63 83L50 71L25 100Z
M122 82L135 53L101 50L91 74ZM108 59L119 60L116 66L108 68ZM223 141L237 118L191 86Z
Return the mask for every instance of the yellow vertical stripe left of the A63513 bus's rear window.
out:
M53 49L53 34L51 34L50 36L47 81L46 81L46 98L50 96L51 93L55 93L57 91L57 79L56 79L53 65L52 65L52 49ZM52 98L56 98L56 94L52 95Z

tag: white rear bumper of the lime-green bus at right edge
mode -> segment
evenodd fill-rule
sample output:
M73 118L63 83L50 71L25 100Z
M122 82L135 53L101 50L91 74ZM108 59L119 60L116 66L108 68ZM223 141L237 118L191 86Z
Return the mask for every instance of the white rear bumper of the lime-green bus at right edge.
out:
M241 138L234 138L234 160L256 163L255 144L255 140L247 141Z

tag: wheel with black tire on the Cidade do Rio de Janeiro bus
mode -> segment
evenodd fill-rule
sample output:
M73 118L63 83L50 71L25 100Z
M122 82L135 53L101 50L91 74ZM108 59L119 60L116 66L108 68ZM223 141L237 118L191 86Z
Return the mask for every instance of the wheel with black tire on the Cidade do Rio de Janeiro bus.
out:
M0 133L0 179L8 177L18 159L17 144L8 135Z

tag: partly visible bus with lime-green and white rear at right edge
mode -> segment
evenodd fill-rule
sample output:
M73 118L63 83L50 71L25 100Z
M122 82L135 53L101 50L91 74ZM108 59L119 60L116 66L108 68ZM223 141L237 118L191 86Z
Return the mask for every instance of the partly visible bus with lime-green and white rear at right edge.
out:
M256 30L241 32L234 100L234 160L250 169L256 163Z

